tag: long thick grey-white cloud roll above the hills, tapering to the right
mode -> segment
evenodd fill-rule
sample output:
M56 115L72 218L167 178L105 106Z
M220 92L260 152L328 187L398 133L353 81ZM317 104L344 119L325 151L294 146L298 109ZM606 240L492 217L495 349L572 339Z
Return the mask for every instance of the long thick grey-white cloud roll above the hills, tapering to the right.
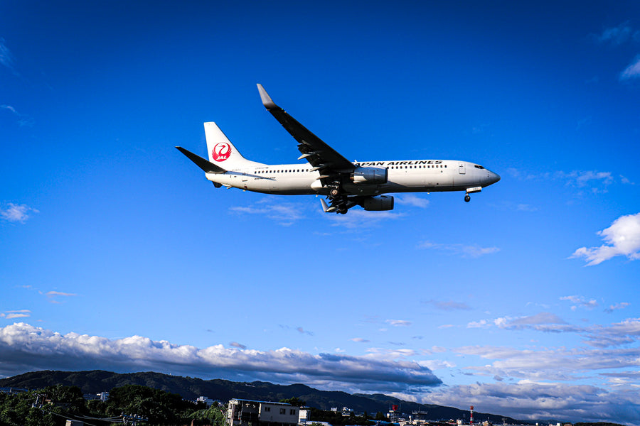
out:
M346 391L402 391L442 383L415 361L401 354L309 354L281 348L272 351L225 348L218 344L199 349L132 336L124 339L57 332L16 323L0 328L0 374L41 369L160 370L208 378L307 383Z

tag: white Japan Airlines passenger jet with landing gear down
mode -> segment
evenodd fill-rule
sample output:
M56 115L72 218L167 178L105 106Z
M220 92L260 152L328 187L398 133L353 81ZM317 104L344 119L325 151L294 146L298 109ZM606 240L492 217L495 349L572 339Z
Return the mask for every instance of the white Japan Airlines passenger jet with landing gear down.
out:
M277 121L298 142L307 164L263 164L244 158L213 122L204 124L208 160L176 146L201 168L217 188L240 188L279 195L322 195L326 213L346 214L361 206L369 211L393 209L394 192L464 191L469 194L500 180L500 176L476 163L460 160L387 160L351 162L321 141L296 119L278 107L262 84L260 99Z

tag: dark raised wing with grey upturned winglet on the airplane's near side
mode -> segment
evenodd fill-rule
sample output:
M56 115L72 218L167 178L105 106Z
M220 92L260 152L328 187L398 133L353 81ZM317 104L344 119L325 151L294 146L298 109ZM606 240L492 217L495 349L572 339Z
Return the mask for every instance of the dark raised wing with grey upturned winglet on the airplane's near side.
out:
M311 133L296 119L287 114L284 109L278 107L267 94L265 88L262 87L262 84L258 84L257 87L262 104L267 111L298 141L298 150L302 153L298 160L306 158L309 164L314 166L315 170L319 170L320 175L326 178L341 173L351 173L356 168L351 161L324 143L314 133Z

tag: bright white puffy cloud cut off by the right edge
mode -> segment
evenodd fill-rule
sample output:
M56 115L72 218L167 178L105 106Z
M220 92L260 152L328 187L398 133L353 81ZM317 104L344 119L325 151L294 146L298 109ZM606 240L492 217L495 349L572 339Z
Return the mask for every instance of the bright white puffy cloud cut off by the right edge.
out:
M587 266L598 265L615 256L626 256L632 261L640 258L640 213L619 217L597 234L607 244L590 249L580 247L570 258L585 258Z

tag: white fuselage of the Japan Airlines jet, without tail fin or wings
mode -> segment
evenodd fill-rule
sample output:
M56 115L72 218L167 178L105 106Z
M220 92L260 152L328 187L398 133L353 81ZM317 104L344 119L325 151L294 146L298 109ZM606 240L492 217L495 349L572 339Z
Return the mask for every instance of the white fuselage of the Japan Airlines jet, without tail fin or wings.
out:
M343 189L351 195L380 195L389 192L464 191L486 187L500 177L475 163L457 160L406 160L353 163L356 167L386 168L384 184L347 182ZM206 178L226 187L265 194L327 195L320 174L309 164L267 165L247 161L225 173L206 173Z

